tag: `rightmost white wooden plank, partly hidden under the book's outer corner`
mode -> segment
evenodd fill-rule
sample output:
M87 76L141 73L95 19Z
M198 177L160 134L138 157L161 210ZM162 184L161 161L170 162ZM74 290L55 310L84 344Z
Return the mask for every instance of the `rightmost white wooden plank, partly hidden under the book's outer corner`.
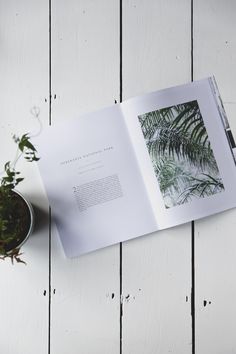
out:
M216 76L236 137L236 3L194 5L194 77ZM220 142L219 142L220 143ZM196 223L196 353L235 353L235 210Z

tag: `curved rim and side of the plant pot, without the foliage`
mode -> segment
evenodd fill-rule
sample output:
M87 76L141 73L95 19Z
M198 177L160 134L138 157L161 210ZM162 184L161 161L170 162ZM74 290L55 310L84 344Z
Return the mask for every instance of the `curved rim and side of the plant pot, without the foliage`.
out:
M17 234L17 238L7 245L6 253L10 253L14 249L19 249L32 234L34 228L34 210L32 205L20 192L14 190L13 193L17 205L15 213L17 218L20 218L19 233Z

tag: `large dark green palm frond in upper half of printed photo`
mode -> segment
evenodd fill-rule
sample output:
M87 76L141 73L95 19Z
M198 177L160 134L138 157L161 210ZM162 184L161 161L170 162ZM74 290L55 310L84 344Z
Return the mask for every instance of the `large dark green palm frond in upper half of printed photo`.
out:
M139 120L152 156L168 152L195 166L217 169L197 101L149 112Z

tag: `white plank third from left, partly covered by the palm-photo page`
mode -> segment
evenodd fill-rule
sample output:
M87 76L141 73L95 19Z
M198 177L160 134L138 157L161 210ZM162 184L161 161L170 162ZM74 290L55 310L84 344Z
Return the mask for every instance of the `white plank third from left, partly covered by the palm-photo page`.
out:
M123 2L123 99L190 81L190 14L189 1ZM122 260L122 353L189 354L191 225L124 243Z

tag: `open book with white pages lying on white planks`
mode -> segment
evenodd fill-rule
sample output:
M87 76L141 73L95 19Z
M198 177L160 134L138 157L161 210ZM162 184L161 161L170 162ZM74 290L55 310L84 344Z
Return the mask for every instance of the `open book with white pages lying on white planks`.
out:
M34 143L69 257L236 206L214 78L53 124Z

